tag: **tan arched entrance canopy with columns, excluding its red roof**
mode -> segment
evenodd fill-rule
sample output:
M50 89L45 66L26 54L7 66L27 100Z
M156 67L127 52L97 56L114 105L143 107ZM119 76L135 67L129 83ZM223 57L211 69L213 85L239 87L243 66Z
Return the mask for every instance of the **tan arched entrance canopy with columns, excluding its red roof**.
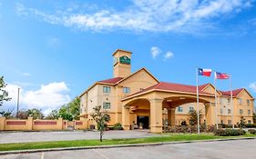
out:
M123 101L122 124L125 130L129 130L133 122L137 120L131 114L148 116L149 130L153 133L161 133L163 128L163 110L168 110L170 125L175 124L175 108L181 104L196 103L196 94L178 94L170 92L152 92L140 97L129 98ZM213 96L200 96L200 103L205 105L207 124L215 124Z

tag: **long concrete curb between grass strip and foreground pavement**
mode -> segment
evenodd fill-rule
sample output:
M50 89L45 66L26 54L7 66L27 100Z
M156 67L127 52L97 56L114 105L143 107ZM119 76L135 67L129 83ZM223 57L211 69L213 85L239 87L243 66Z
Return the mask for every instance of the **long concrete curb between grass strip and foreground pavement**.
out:
M149 144L114 144L114 145L99 145L99 146L62 147L62 148L47 148L47 149L34 149L34 150L3 151L3 152L0 152L0 155L85 150L85 149L106 149L106 148L117 148L117 147L153 146L153 145L164 145L164 144L189 144L189 143L205 143L205 142L223 142L223 141L233 141L233 140L255 140L255 139L256 137L243 137L243 138L193 140L193 141L180 141L180 142L161 142L161 143L149 143Z

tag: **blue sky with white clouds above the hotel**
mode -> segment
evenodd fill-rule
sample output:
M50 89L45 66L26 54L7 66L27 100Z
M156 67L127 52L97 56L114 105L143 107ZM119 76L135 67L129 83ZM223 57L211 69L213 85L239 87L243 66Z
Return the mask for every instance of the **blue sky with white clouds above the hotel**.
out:
M232 75L256 95L254 0L0 0L0 75L15 107L47 113L112 77L112 53L131 51L132 71L195 84L195 67ZM152 55L155 53L155 56ZM200 78L200 84L213 78ZM229 89L229 81L218 81Z

